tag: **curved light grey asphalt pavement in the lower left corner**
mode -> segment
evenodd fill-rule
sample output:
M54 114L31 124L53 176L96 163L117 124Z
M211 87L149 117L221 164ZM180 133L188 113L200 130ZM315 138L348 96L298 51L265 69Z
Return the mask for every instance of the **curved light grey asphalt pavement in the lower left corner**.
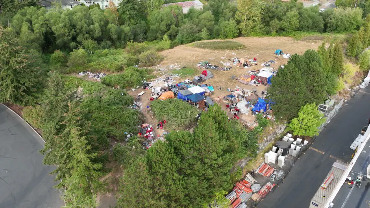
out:
M0 208L59 208L55 168L43 165L42 139L0 104Z

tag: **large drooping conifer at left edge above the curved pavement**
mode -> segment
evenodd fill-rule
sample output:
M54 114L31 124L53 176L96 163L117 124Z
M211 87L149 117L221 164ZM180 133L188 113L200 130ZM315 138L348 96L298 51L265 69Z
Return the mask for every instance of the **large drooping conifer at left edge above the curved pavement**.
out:
M33 105L40 67L21 48L13 33L0 25L0 102Z

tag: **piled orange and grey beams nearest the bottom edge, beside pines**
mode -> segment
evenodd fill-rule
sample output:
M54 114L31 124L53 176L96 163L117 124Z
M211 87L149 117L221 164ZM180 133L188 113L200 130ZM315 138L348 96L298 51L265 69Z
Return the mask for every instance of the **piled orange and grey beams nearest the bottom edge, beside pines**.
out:
M252 175L247 174L246 177L235 184L233 191L226 196L230 200L230 208L246 208L245 202L252 197L253 190L251 185L256 182ZM254 192L259 191L256 190Z

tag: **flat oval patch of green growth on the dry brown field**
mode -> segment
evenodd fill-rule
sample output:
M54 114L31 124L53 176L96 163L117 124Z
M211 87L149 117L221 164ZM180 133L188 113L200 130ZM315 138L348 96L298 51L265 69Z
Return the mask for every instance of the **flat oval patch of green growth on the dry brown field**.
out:
M245 48L243 44L230 40L196 42L192 46L211 50L238 50Z

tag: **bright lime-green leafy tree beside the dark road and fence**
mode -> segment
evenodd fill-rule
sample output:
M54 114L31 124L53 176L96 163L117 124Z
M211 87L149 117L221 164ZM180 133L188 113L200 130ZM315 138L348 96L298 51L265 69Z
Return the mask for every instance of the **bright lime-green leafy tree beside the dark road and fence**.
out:
M318 128L325 120L315 103L306 104L299 110L297 118L288 124L287 130L293 131L293 135L313 137L319 134Z

